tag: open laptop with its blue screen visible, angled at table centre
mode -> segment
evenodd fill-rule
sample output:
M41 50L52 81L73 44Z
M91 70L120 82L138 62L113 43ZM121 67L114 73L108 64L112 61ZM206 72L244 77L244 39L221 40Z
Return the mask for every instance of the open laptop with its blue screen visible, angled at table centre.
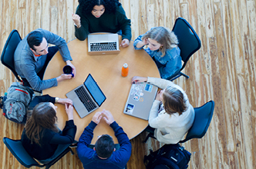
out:
M80 118L84 118L95 111L106 100L106 96L91 74L87 76L83 85L79 85L77 88L69 91L66 97L73 101L73 106L76 108Z

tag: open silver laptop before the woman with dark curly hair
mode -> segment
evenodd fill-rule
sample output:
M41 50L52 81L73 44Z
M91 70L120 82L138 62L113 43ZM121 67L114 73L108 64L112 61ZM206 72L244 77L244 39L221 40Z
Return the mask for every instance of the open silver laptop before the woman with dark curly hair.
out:
M113 55L119 54L118 34L89 34L88 54L89 55Z

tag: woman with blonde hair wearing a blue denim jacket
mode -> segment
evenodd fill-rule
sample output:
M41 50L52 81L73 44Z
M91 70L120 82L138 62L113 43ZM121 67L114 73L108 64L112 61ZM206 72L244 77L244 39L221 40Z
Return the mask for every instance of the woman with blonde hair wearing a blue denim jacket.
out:
M181 57L177 36L173 31L164 27L151 28L146 34L135 39L133 46L136 50L145 45L147 53L153 58L159 69L161 78L173 78L180 71Z

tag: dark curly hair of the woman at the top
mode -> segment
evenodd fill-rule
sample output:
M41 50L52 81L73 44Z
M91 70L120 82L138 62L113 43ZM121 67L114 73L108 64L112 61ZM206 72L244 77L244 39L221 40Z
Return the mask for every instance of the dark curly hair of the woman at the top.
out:
M121 5L118 0L78 0L78 2L79 8L83 9L85 15L90 14L95 5L103 5L107 13L115 13L117 5Z

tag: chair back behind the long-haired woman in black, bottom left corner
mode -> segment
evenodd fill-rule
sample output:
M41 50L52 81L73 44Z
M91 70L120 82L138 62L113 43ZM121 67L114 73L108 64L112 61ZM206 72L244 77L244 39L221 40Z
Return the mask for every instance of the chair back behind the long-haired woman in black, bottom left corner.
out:
M32 158L27 151L25 151L25 148L22 146L21 140L12 140L10 138L3 138L3 141L8 147L9 151L14 155L14 157L19 161L20 164L22 164L25 167L43 167L40 164L38 164L34 158Z

